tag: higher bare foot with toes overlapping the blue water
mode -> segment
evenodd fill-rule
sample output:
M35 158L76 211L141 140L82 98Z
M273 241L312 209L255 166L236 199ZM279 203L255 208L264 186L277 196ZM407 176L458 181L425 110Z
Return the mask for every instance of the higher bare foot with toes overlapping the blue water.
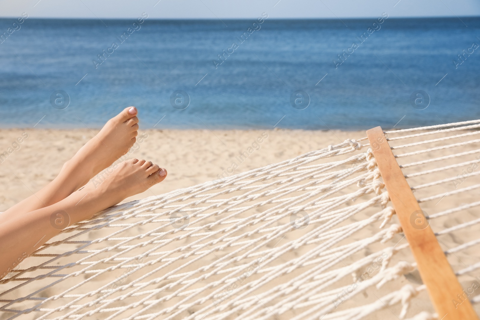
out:
M125 108L65 163L62 171L68 173L70 181L75 181L76 189L130 150L138 134L136 115L135 107Z

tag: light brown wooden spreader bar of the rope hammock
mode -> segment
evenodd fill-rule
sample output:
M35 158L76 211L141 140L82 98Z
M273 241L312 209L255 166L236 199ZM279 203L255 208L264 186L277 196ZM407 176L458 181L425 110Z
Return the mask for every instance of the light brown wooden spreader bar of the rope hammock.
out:
M433 306L442 320L478 320L470 301L465 297L444 251L440 247L407 179L390 149L381 127L367 130L367 136L384 180L390 200L407 238L423 283ZM455 304L458 297L461 304ZM464 298L465 297L465 298Z

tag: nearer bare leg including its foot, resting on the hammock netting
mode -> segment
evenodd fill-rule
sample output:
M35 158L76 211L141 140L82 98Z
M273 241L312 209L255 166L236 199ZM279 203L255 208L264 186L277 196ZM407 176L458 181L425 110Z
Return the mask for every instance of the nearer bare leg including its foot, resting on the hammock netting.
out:
M167 171L150 161L127 160L100 185L89 184L48 207L13 216L0 224L0 279L67 225L91 218L123 199L161 182Z

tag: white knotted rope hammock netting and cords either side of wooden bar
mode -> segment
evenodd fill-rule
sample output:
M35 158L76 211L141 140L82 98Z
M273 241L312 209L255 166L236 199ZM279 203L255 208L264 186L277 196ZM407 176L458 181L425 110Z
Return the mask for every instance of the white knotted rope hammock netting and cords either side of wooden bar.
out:
M385 132L467 287L480 269L478 128ZM407 280L416 263L364 140L72 225L0 280L1 319L437 319Z

